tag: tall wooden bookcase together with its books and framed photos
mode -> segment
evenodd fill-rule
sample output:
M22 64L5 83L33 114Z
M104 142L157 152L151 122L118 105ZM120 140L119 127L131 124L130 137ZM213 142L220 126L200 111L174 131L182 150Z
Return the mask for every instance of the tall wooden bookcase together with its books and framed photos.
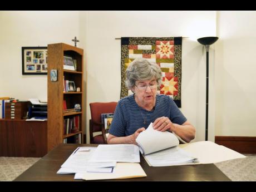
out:
M50 71L58 71L57 82L51 81ZM78 88L78 90L77 90ZM48 45L48 150L64 142L83 143L83 50L65 43ZM77 118L75 131L65 125ZM63 129L64 127L64 129ZM68 130L67 130L68 129ZM74 137L74 138L73 138Z

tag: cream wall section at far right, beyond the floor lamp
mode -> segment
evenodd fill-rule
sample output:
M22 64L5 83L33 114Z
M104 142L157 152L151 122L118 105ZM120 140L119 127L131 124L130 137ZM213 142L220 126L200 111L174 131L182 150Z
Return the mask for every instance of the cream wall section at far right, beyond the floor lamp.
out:
M256 136L256 11L218 11L216 135Z

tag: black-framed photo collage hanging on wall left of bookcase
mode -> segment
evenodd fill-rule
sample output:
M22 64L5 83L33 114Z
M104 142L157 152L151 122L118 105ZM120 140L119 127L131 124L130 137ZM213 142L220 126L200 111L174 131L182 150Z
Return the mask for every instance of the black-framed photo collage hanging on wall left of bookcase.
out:
M47 75L47 47L21 47L22 75Z

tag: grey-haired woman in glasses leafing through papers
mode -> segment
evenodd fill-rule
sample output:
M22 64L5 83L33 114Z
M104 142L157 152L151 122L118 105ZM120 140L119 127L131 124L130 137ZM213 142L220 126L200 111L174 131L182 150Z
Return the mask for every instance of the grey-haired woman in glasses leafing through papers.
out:
M190 142L195 128L186 120L171 97L156 93L161 69L144 59L135 59L126 70L126 86L134 94L122 98L115 110L107 142L136 144L136 137L151 122L157 131L169 130Z

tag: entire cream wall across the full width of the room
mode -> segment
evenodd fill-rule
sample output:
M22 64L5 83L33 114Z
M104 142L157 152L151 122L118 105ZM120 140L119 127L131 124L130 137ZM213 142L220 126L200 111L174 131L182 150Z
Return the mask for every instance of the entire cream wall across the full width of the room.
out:
M1 11L0 97L46 100L47 77L22 75L21 47L73 45L77 36L85 50L88 127L90 102L120 99L121 49L115 38L189 37L183 40L181 111L196 127L195 141L204 140L205 48L196 39L219 36L209 54L209 139L215 132L255 136L254 20L255 12Z

